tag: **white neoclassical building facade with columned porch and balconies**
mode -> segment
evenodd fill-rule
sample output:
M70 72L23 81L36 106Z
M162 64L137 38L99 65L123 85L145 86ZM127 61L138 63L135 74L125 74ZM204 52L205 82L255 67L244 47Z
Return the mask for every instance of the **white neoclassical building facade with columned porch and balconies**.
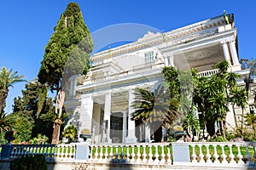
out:
M241 71L234 17L228 17L230 24L220 15L165 33L148 32L136 42L94 54L88 74L71 79L65 104L69 122L79 133L89 129L96 143L148 142L149 127L136 127L130 119L133 90L163 83L161 70L165 65L195 68L199 76L209 77L217 71L212 66L227 59L230 71ZM232 107L226 118L235 126Z

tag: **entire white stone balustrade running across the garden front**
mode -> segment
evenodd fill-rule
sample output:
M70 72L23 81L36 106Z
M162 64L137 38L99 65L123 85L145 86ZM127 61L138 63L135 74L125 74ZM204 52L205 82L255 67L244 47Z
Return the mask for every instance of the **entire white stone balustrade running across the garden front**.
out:
M4 147L10 148L4 157ZM83 148L87 147L86 150ZM90 149L89 149L90 148ZM175 151L176 150L176 151ZM187 151L186 151L187 150ZM1 159L42 154L46 161L102 164L256 167L256 143L5 144ZM79 153L79 154L78 154ZM85 156L87 155L87 156ZM179 157L177 159L177 157Z

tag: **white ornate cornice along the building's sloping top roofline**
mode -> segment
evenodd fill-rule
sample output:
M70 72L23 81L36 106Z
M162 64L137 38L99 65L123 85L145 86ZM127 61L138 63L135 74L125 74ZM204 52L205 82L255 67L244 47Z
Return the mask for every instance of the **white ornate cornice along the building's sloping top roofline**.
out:
M201 22L189 25L189 26L184 26L182 28L178 28L173 31L168 31L168 32L164 32L164 33L157 32L155 34L152 32L148 32L147 34L144 35L144 37L139 38L137 40L137 42L131 42L131 43L119 46L117 48L111 48L110 49L111 55L109 53L109 50L105 50L100 53L94 54L90 58L90 60L96 61L96 60L101 60L101 59L108 59L115 55L125 54L125 53L131 52L131 51L136 51L137 49L140 49L140 48L148 48L148 47L151 47L158 43L163 43L164 36L166 37L166 42L170 42L171 45L175 45L175 44L178 44L181 42L188 41L188 40L186 40L186 39L188 39L188 37L185 37L185 36L188 36L189 34L193 34L195 32L204 31L204 30L210 31L210 28L213 28L216 26L223 26L223 25L224 25L224 18L223 18L223 16L219 16L218 18L215 18L215 19L204 20L204 21L201 21ZM190 39L191 39L191 37L190 37Z

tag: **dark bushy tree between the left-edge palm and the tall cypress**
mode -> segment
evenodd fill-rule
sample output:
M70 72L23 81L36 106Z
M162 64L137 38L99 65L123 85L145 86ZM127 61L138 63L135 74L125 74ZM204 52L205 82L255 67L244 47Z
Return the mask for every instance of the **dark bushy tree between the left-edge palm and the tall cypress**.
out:
M38 133L45 134L51 139L53 122L38 117L38 100L40 99L38 95L40 93L38 92L40 92L41 88L42 85L37 80L28 82L25 85L25 89L21 91L22 96L15 98L14 111L10 115L16 117L13 130L15 131L16 139L20 139L20 141L37 137ZM40 115L55 111L51 98L44 99L44 103L41 105ZM24 133L24 137L20 136L22 133Z

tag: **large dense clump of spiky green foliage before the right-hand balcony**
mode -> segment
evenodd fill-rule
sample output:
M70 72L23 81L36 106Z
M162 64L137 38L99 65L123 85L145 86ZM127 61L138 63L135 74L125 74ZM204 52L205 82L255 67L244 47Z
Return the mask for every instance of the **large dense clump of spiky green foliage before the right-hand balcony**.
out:
M198 105L202 111L203 117L207 122L207 132L211 136L215 133L214 122L221 122L223 126L224 118L229 111L227 105L230 93L227 89L236 88L237 86L236 79L238 75L228 72L229 66L226 60L214 65L218 69L218 73L209 78L199 78L195 88L193 100L195 105ZM243 98L243 96L237 97ZM224 132L223 129L222 132Z

